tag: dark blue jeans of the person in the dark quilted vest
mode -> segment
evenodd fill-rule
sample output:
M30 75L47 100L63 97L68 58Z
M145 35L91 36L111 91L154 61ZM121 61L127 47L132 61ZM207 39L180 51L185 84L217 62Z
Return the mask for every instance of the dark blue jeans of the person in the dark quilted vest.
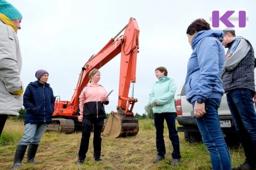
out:
M227 104L241 137L246 161L256 165L256 113L253 106L253 92L236 89L227 93Z

